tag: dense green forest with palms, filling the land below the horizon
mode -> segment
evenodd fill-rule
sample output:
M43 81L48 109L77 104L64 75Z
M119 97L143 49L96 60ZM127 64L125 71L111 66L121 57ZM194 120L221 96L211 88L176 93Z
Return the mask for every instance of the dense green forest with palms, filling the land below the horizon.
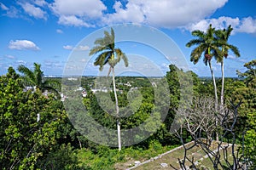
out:
M194 31L199 39L187 43L200 44L191 61L204 56L210 69L213 58L223 65L229 49L239 55L221 38L225 31L214 31L214 43L202 41L211 31ZM177 169L203 168L187 155L194 147L209 157L204 168L255 169L255 59L237 77L202 78L172 64L165 77L115 77L114 66L128 59L114 47L113 33L96 40L104 48L90 50L102 53L94 64L108 64L112 77L44 77L37 63L9 67L0 77L0 169L125 169L180 145ZM101 126L114 133L101 135ZM133 128L143 133L125 135Z

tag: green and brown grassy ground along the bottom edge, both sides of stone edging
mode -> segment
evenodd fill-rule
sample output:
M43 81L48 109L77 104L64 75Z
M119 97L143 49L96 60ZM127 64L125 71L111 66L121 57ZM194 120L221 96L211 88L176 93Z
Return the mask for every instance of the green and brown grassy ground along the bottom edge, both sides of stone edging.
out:
M193 144L193 142L186 144L187 147ZM215 150L218 144L216 142L212 143L211 150ZM237 148L237 147L236 147ZM161 146L158 142L153 142L149 144L148 150L142 148L128 147L119 151L117 149L109 149L108 147L97 148L98 153L94 154L90 150L79 150L79 161L81 162L81 167L86 167L85 169L102 169L102 170L125 170L132 168L135 161L148 161L143 165L132 168L136 170L157 170L157 169L173 169L171 165L179 169L178 159L183 159L183 146ZM224 162L223 151L221 153L221 160ZM231 147L228 149L228 153L231 153ZM194 159L197 161L197 166L199 169L202 167L207 167L204 169L213 169L212 162L210 158L206 157L206 153L201 149L200 146L195 146L187 151L187 156L189 159ZM229 156L231 161L232 156ZM168 167L161 167L161 163L166 163ZM186 161L186 166L189 166L189 161ZM231 162L232 163L232 162ZM221 167L219 167L221 169Z

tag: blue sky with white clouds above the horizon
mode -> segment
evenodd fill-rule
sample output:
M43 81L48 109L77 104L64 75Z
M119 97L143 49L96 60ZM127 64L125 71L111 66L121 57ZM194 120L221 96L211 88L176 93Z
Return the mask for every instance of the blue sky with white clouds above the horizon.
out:
M61 76L75 66L84 69L80 74L98 75L93 65L96 56L88 53L93 41L113 26L119 39L116 46L127 54L131 75L133 70L154 75L150 65L164 75L168 65L182 60L198 76L210 77L202 59L196 65L189 61L195 47L185 44L195 38L191 31L206 31L212 24L216 29L229 25L234 29L229 42L239 48L241 57L230 52L224 72L225 77L237 77L236 70L245 71L243 65L256 58L255 8L255 0L0 0L0 75L9 66L32 69L34 62L42 65L44 75ZM128 23L129 33L117 26ZM143 37L145 32L149 33ZM168 54L168 47L181 53ZM69 65L73 59L76 62ZM214 59L212 68L220 77L220 64Z

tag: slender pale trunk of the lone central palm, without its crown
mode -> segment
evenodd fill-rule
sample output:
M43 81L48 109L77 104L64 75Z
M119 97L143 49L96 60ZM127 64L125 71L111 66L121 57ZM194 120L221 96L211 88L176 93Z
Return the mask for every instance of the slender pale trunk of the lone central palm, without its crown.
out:
M116 109L116 115L117 115L117 130L118 130L118 144L119 144L119 150L121 150L121 123L119 120L119 100L117 98L116 94L116 88L115 88L115 80L114 80L114 68L112 67L112 78L113 78L113 94L115 99L115 109Z

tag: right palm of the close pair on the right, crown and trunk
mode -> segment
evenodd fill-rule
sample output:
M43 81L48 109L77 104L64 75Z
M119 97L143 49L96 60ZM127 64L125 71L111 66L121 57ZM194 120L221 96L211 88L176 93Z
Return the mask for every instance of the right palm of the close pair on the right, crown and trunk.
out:
M220 107L223 108L224 105L224 58L228 57L228 52L231 50L236 57L240 57L239 49L228 43L229 37L231 35L231 31L233 28L231 25L224 30L217 30L215 31L216 35L216 42L218 43L219 48L221 48L221 55L217 57L217 62L221 63L221 94L220 94Z

